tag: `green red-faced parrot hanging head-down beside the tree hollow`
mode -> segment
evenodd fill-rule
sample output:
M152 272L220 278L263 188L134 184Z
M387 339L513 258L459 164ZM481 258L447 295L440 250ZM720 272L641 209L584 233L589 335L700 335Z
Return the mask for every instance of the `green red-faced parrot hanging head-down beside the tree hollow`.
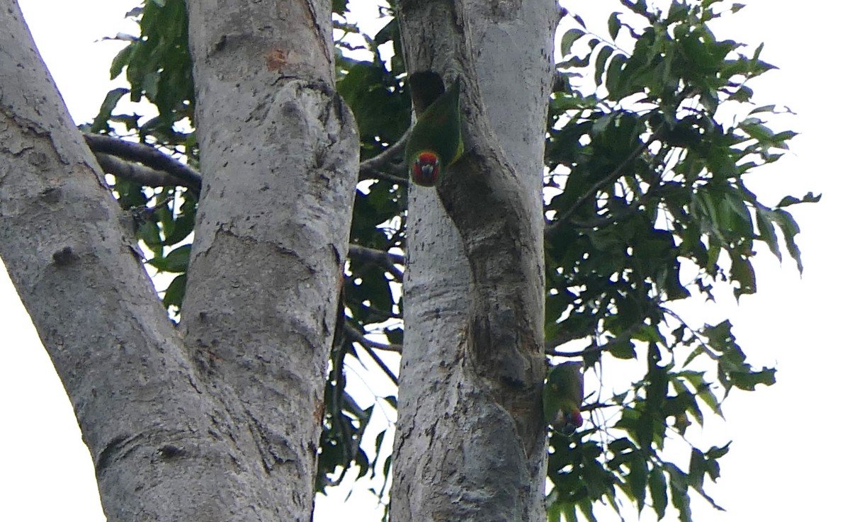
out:
M442 90L442 88L440 88ZM433 187L442 170L463 154L461 79L418 116L405 147L405 164L413 183Z

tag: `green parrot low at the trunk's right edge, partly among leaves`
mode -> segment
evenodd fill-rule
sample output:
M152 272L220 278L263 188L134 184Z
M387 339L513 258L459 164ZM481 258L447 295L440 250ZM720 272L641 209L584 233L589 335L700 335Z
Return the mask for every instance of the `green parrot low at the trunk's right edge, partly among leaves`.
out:
M569 435L581 427L584 374L581 362L565 362L549 370L543 385L543 416L555 431Z

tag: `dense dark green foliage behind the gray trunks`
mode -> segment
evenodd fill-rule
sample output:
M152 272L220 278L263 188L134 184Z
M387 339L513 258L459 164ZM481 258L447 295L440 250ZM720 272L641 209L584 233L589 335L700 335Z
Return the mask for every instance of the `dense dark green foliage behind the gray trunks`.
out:
M717 479L717 459L728 444L692 446L689 462L667 460L662 450L689 445L683 435L691 423L702 424L706 411L720 415L731 389L774 383L774 370L746 362L728 321L686 324L674 302L756 292L757 241L777 257L787 252L802 270L798 229L786 207L817 198L789 196L768 205L746 187L746 174L779 159L794 133L768 128L766 118L779 111L774 105L751 104L747 82L773 68L759 60L761 46L717 41L709 29L740 4L676 1L662 11L643 0L610 3L622 10L610 15L605 36L564 11L569 30L558 42L564 59L541 129L547 133L547 351L555 361L583 360L598 375L614 359L635 360L637 370L631 384L588 390L586 428L553 434L547 509L550 520L573 520L579 511L594 519L595 502L607 499L619 510L627 498L638 509L650 505L659 518L672 502L679 518L689 520L692 492L713 503L704 480ZM368 355L396 382L377 354L398 351L403 337L407 181L393 145L410 124L410 99L404 64L393 53L398 26L393 9L383 7L383 28L369 35L347 1L334 0L333 7L337 90L356 116L362 163L316 491L352 468L359 477L387 476L390 443L382 432L374 448L361 444L375 406L348 394L344 360ZM123 72L130 88L107 94L87 130L120 130L196 166L184 2L148 0L128 16L138 20L141 36L116 56L111 74ZM116 113L127 94L150 101L157 116ZM174 276L162 298L177 320L196 193L121 178L114 190L133 213L150 267ZM395 407L394 396L379 400Z

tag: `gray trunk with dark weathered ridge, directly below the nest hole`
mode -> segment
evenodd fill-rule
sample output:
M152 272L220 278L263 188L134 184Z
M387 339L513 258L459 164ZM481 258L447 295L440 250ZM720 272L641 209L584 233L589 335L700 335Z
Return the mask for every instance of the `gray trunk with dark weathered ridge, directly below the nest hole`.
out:
M545 518L541 174L555 6L399 3L408 70L462 77L467 153L414 187L391 518ZM447 212L446 212L447 211Z

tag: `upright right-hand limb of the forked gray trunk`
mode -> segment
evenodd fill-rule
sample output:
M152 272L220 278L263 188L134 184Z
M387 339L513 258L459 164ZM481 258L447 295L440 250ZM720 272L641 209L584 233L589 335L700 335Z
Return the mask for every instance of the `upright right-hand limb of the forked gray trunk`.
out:
M331 1L187 5L204 185L181 326L263 519L307 521L360 147Z

